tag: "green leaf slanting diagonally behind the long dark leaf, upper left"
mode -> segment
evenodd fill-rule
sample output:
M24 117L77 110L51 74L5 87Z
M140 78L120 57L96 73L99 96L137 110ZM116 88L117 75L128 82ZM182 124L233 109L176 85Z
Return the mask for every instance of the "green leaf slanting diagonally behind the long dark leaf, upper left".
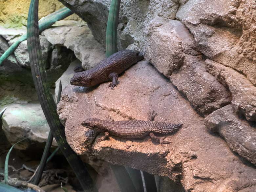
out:
M48 29L50 26L52 26L56 21L59 21L61 19L64 19L68 17L69 15L73 14L73 12L67 8L64 7L62 9L59 9L58 11L55 11L45 17L43 17L39 21L39 31L42 32L46 29ZM7 59L19 46L19 44L22 41L25 41L27 39L27 34L22 35L15 43L13 43L6 51L5 53L0 57L0 65L2 62Z

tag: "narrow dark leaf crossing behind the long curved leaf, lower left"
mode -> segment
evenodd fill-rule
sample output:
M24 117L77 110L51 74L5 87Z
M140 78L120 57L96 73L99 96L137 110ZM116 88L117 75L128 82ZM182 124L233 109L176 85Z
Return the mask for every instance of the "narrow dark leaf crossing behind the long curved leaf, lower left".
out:
M61 84L61 81L60 81L59 82L59 91L58 91L58 98L57 98L57 101L56 101L56 105L60 101L61 92L62 92L62 84ZM40 180L41 180L41 177L42 177L42 174L43 174L43 171L44 171L44 167L45 167L46 163L48 162L47 156L50 152L50 148L52 146L52 143L53 143L53 133L50 130L50 132L48 134L48 139L47 139L45 147L44 147L44 152L43 152L42 158L41 158L40 163L39 163L38 170L37 170L37 172L35 174L35 177L34 177L33 184L35 184L35 185L38 185Z

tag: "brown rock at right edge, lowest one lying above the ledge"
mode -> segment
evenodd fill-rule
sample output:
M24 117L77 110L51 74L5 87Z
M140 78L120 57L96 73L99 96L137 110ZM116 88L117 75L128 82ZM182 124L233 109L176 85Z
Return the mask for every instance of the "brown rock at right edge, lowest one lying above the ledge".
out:
M218 132L233 151L256 164L256 123L239 117L233 104L216 110L204 122L207 129Z

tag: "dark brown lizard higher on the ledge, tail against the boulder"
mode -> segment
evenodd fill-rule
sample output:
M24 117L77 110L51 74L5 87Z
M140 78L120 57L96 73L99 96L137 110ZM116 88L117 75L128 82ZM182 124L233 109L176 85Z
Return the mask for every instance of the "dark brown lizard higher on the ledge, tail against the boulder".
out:
M119 51L103 59L94 68L75 73L70 84L92 87L112 80L109 86L114 89L117 86L118 75L141 59L143 59L143 55L139 51Z

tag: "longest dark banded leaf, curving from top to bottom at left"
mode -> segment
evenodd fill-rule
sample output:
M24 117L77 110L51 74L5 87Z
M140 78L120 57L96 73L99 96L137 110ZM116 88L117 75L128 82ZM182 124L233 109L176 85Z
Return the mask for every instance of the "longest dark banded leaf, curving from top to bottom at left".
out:
M89 175L87 168L84 166L78 155L75 154L75 152L69 146L65 137L64 127L60 123L59 116L56 112L56 105L51 94L50 85L47 81L45 63L42 57L42 50L39 40L38 0L31 0L30 3L27 24L27 39L30 67L35 89L53 136L56 139L63 155L73 169L84 191L96 192L97 189Z

